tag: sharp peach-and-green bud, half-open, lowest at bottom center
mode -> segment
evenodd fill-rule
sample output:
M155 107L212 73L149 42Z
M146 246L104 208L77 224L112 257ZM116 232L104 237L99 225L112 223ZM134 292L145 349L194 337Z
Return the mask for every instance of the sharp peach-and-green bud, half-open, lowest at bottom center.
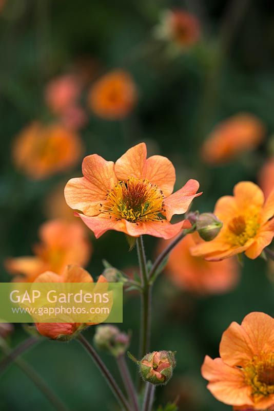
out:
M153 351L140 361L140 373L144 381L165 385L172 377L176 362L172 351Z

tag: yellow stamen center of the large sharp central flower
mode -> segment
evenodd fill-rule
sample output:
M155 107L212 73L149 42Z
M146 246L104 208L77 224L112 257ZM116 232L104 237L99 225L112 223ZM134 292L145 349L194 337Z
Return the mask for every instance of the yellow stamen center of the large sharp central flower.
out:
M101 208L110 217L136 223L163 220L164 211L164 196L158 185L134 177L119 181Z

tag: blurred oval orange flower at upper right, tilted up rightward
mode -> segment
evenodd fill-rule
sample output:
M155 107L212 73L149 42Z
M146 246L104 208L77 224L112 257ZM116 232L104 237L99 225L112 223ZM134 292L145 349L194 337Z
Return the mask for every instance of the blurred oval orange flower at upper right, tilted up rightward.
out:
M251 114L238 114L219 123L202 146L203 160L209 164L230 161L237 154L256 148L265 135L262 122Z

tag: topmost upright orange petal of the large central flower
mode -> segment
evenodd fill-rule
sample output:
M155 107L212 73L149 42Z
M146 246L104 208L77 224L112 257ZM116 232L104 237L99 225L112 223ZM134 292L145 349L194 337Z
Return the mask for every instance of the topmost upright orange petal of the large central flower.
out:
M140 143L123 154L115 162L115 174L119 180L127 180L129 177L144 178L143 170L146 163L147 147Z

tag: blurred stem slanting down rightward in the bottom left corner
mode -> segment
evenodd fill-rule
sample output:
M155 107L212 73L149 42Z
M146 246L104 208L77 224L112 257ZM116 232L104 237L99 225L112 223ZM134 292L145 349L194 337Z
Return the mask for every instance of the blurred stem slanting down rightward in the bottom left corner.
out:
M5 354L9 357L12 357L13 351L10 347L4 342L1 341L1 349L5 352ZM23 351L21 351L23 352ZM63 401L58 398L58 396L54 393L54 391L49 387L46 381L29 365L25 360L19 357L14 357L13 362L22 369L22 371L29 377L29 379L36 385L38 389L40 389L41 393L49 400L49 402L53 405L53 407L57 411L68 411L68 408L65 406Z

